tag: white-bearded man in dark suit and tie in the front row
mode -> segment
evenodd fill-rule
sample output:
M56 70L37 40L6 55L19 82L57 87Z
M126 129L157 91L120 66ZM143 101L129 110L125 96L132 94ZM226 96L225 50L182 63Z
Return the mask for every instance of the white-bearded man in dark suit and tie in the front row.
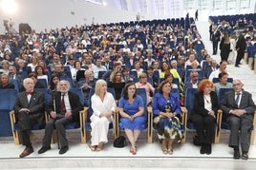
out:
M70 92L69 89L70 83L68 81L60 81L57 85L58 91L53 93L52 102L46 107L46 111L51 115L51 119L46 123L43 146L38 150L38 154L51 149L54 127L57 131L57 138L60 144L58 153L65 154L69 149L65 124L78 122L79 111L82 109L79 97L75 93Z

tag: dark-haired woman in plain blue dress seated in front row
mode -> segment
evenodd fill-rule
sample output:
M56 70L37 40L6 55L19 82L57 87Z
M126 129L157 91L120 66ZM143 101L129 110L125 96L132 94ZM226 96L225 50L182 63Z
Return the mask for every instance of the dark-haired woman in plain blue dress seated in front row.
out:
M144 129L144 104L142 98L137 95L136 86L128 83L124 86L123 96L119 101L120 127L124 128L125 134L131 143L130 152L137 153L137 139L141 130Z

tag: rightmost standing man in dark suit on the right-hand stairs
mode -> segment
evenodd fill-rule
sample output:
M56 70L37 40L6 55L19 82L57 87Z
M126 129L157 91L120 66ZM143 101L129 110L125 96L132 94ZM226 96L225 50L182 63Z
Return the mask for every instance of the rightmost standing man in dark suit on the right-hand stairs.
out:
M245 41L245 34L246 30L242 32L242 34L238 37L237 43L236 43L236 50L237 50L237 58L236 58L236 67L240 67L239 65L242 58L244 58L245 55L245 47L246 47L246 41Z

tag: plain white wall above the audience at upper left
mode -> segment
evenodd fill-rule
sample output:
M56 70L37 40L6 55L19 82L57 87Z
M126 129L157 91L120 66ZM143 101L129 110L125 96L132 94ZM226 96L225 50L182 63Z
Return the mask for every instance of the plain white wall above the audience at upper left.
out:
M0 10L0 22L4 19L14 22L14 28L18 30L20 23L28 23L36 31L44 28L63 28L66 26L91 25L93 17L95 23L111 23L136 20L135 12L102 7L85 0L16 0L18 11L15 14L7 14ZM112 1L113 3L113 1ZM75 14L71 12L74 11ZM0 23L3 27L2 23ZM3 28L0 29L2 33Z

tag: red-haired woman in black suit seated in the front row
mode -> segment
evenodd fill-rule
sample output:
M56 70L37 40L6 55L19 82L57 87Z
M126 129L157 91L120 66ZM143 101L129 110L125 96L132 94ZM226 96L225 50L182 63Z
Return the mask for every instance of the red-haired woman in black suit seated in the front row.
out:
M211 154L211 143L214 139L214 130L218 109L218 97L212 91L214 85L208 79L199 84L199 92L195 94L191 121L194 124L199 142L201 143L201 154Z

